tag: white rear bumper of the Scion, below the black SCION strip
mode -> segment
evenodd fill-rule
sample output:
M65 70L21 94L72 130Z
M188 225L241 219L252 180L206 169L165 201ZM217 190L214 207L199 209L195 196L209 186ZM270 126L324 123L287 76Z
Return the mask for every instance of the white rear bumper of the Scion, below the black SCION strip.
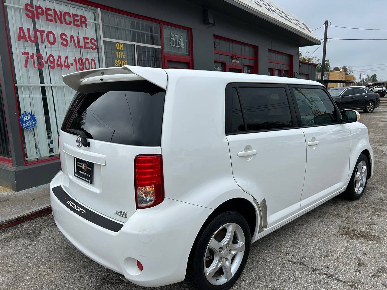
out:
M80 217L58 200L52 188L61 184L59 172L50 184L55 223L82 253L137 285L156 287L184 280L192 244L211 209L166 198L153 208L137 210L115 232Z

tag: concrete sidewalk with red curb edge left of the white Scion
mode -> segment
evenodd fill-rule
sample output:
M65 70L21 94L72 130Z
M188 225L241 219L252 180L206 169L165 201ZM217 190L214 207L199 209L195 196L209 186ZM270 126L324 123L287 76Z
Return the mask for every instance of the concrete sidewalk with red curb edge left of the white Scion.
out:
M0 186L0 229L50 212L49 184L19 192Z

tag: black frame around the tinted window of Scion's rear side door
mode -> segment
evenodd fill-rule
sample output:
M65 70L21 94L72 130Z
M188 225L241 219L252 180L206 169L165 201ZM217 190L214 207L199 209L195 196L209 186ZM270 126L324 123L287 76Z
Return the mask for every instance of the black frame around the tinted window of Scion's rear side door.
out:
M232 122L232 89L237 88L236 91L238 93L238 99L239 104L241 107L241 113L243 118L243 125L245 126L245 131L240 132L230 132L231 130L231 122ZM239 88L240 87L257 87L257 88L283 88L285 89L286 98L288 99L289 104L289 111L291 120L293 122L293 126L290 127L284 127L284 128L272 128L272 129L265 129L265 130L247 130L247 123L245 118L245 109L243 108L243 103L240 99L240 93ZM224 107L224 126L225 126L225 133L226 136L228 135L238 135L238 134L250 134L250 133L259 133L259 132L270 132L270 131L280 131L280 130L291 130L298 128L298 120L297 115L294 107L294 102L290 94L290 89L288 84L274 84L274 83L248 83L248 82L230 82L226 85L225 88L225 107Z

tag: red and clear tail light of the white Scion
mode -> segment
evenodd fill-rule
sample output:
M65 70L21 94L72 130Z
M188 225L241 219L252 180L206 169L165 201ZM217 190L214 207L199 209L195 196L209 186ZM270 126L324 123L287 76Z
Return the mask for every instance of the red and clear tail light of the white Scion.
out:
M137 155L134 159L137 208L148 208L164 200L163 156Z

